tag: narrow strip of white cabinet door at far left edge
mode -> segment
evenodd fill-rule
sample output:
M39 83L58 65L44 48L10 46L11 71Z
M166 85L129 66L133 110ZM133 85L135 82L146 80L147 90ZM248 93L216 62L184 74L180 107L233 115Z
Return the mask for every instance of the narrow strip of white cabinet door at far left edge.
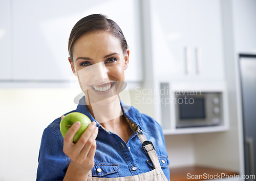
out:
M12 79L11 2L0 1L0 80Z

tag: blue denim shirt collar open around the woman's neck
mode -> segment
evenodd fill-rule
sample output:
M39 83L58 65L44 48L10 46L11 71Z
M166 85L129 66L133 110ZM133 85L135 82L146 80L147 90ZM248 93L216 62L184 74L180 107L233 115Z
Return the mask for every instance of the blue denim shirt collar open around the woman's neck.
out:
M136 124L137 126L139 126L142 131L148 132L145 130L145 128L143 126L143 121L142 121L142 118L141 118L141 115L140 115L140 112L138 109L134 108L133 106L127 106L123 102L120 102L120 105L121 105L121 108L122 108L125 118L132 121L133 124ZM91 115L91 112L89 111L88 107L86 106L84 96L79 100L79 104L77 105L76 112L81 112L82 114L88 116L91 121L95 121L97 123L98 127L101 126ZM129 123L129 121L127 121L127 122ZM130 124L130 126L131 126L131 124ZM137 130L137 132L138 131L139 130Z

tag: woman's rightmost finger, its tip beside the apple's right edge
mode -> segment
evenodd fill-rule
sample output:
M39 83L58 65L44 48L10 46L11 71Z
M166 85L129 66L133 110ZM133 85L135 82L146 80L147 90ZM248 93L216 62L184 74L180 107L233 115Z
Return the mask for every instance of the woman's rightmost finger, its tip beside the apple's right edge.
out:
M75 149L79 149L79 151L82 150L82 148L84 147L84 145L86 145L88 139L91 137L91 134L93 133L93 131L95 130L96 127L96 123L93 121L86 129L86 131L84 131L81 135L81 137L78 139L78 141L76 142Z

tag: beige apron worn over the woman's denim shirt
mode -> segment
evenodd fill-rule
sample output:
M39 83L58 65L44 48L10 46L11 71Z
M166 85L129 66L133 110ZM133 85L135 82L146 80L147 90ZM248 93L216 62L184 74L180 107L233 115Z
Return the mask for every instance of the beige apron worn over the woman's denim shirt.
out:
M144 136L144 134L140 131L138 133L138 137L141 141L141 143L143 144L146 140L146 137ZM146 143L146 142L145 142ZM149 142L148 142L149 143ZM117 177L117 178L99 178L99 177L92 177L92 171L89 172L88 175L88 179L87 180L92 180L92 181L97 181L97 180L107 180L107 181L121 181L121 180L141 180L141 181L167 181L168 179L166 178L166 176L164 175L158 157L157 157L157 153L156 150L154 149L152 144L147 144L144 146L144 148L147 151L148 156L150 156L150 160L152 161L153 165L154 165L154 170L151 170L150 172L146 172L143 174L139 174L139 175L134 175L134 176L125 176L125 177Z

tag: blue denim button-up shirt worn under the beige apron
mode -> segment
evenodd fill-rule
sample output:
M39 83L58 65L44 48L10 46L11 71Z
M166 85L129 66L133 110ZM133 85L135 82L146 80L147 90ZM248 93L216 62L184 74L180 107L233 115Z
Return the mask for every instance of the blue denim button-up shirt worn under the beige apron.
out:
M153 170L150 157L145 153L137 137L139 129L141 129L146 139L153 143L161 168L169 180L169 161L161 126L151 117L140 114L134 107L126 106L122 102L121 107L133 134L126 144L117 134L103 129L96 122L99 132L96 138L97 149L92 176L123 177ZM84 104L84 97L80 100L77 109L71 112L81 112L87 115L91 121L95 121ZM63 153L63 138L59 130L59 123L60 118L53 121L42 134L36 180L62 180L65 177L71 160ZM137 169L133 170L133 167ZM97 168L102 171L98 172Z

